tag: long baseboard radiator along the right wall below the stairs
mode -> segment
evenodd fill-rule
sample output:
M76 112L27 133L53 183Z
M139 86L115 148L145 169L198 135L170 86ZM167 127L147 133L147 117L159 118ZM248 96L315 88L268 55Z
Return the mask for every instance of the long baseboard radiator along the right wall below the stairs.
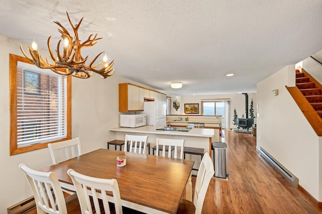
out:
M276 168L284 177L286 177L286 179L288 179L293 184L293 186L297 188L298 178L294 174L287 170L287 168L285 168L280 162L278 162L262 147L259 147L258 151L274 168Z

